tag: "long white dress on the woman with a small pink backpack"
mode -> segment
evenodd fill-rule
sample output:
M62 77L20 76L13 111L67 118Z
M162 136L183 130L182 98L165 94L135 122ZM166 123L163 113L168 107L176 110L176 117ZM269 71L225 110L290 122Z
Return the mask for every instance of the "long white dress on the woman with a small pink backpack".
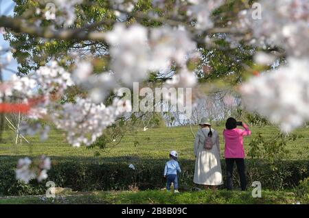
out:
M222 183L222 170L220 162L220 141L218 132L211 128L214 146L204 149L205 136L209 128L203 128L196 132L194 141L194 155L196 156L194 183L205 185L220 185Z

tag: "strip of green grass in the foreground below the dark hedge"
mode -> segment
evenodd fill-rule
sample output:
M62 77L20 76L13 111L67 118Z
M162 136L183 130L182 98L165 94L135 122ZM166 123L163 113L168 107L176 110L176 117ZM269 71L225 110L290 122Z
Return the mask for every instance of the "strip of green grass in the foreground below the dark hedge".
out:
M252 197L251 191L194 191L179 194L166 191L93 191L68 193L56 198L44 196L0 197L0 204L309 204L293 192L262 191L262 197Z

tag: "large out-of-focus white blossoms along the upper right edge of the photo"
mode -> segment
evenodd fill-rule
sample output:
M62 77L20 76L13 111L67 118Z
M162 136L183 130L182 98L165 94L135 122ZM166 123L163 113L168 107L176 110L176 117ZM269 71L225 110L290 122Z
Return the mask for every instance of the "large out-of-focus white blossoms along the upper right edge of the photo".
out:
M251 11L240 13L239 29L251 29L252 43L285 49L287 66L264 72L242 84L245 106L268 117L290 132L309 120L309 1L275 0L259 2L262 19L253 19ZM275 58L256 53L255 62L270 65Z

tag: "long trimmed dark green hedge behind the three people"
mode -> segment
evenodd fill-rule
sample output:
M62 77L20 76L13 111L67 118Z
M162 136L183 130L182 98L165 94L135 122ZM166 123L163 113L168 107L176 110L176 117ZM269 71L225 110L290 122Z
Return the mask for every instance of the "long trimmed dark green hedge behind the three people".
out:
M0 195L38 195L44 194L45 182L54 181L56 186L71 188L73 191L128 190L137 186L139 190L161 189L165 186L163 167L166 160L150 159L132 162L136 170L128 168L130 162L85 162L61 160L53 163L48 172L49 178L40 184L33 180L30 184L15 179L13 161L0 159ZM193 183L194 161L179 160L182 173L179 175L179 189L191 190ZM246 160L248 186L253 181L260 181L262 189L292 189L299 185L299 180L309 177L308 160L289 160L269 165L263 161ZM222 160L222 174L225 180L225 160ZM307 180L304 180L308 182ZM238 173L233 176L235 188L239 186ZM306 182L304 182L306 183ZM301 183L301 187L304 186ZM225 186L220 186L220 189ZM308 186L307 186L308 188Z

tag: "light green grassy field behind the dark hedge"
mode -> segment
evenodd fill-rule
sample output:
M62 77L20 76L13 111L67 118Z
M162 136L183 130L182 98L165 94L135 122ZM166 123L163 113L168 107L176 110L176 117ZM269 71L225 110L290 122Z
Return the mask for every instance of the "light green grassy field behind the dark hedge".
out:
M222 143L223 126L214 127L220 133L221 156L224 152ZM193 127L194 132L198 127ZM263 128L251 128L253 136L262 132L266 138L271 138L275 134L275 128L266 126ZM290 152L288 159L306 160L309 158L309 130L308 128L299 128L297 134L302 134L304 138L297 138L297 141L288 142ZM249 141L252 136L244 138L244 149L247 153L249 150ZM106 160L121 158L168 158L171 149L179 152L179 157L187 160L194 160L193 155L193 136L190 127L174 128L153 128L150 130L139 131L137 135L129 134L122 139L122 142L115 147L107 149L87 149L87 147L72 147L65 140L65 135L59 130L52 130L47 141L39 141L38 136L27 137L31 145L26 143L14 145L14 132L7 130L3 133L5 143L0 144L0 158L10 158L17 156L38 156L45 154L52 156L54 159L61 158L83 158L89 160ZM134 141L139 141L135 145ZM98 156L100 154L100 156ZM98 156L98 157L95 157Z

